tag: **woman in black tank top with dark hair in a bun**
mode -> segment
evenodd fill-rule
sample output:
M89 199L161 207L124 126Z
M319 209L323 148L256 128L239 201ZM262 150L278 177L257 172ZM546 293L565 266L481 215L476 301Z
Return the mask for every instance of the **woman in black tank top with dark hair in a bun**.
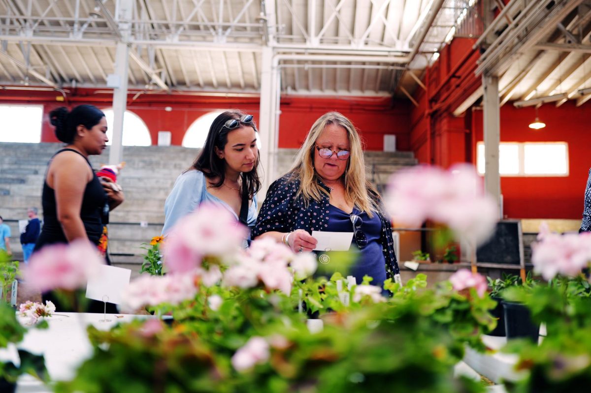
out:
M105 114L92 105L80 105L72 112L55 109L50 119L57 138L67 146L47 166L41 196L44 225L35 251L79 238L98 245L109 210L124 201L123 193L108 184L110 179L99 180L88 161L89 155L101 154L109 140ZM73 311L53 292L44 293L43 300L51 300L58 311ZM103 308L102 302L93 300L86 311L103 312ZM108 303L107 312L116 313L115 304Z

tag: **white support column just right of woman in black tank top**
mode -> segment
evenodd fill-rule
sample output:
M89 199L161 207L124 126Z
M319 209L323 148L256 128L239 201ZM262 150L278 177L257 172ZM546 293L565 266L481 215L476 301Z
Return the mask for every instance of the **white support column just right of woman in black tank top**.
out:
M115 74L111 77L113 87L113 139L109 152L109 163L118 164L123 159L123 115L127 103L127 83L129 70L129 38L131 32L131 18L133 15L133 0L119 0L117 2L115 21L121 38L117 42L115 51Z

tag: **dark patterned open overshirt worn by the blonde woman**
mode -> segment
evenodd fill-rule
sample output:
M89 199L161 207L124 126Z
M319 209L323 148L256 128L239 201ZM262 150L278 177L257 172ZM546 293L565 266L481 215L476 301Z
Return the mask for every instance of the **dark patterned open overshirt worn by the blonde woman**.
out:
M300 189L300 179L291 175L285 175L269 186L267 197L262 204L256 220L255 228L252 230L252 238L269 231L291 232L303 229L312 231L330 231L329 229L329 188L317 180L326 189L327 193L322 195L320 201L311 200L306 203L301 195L297 195ZM381 199L375 193L370 194L378 204ZM394 253L394 241L392 240L392 226L382 214L376 212L380 222L380 229L377 233L378 244L385 261L385 270L388 278L400 279L400 268ZM365 222L365 218L362 217ZM352 231L352 224L349 224L348 232ZM384 266L382 264L382 266ZM375 278L375 277L374 277ZM377 280L372 281L375 283ZM361 283L361 281L359 281Z

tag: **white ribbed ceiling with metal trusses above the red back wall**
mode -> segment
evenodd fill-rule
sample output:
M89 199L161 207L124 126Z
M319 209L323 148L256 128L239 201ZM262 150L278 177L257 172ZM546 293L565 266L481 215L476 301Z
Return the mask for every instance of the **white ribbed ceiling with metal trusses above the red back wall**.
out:
M134 0L129 89L258 93L261 50L281 90L413 91L473 0ZM119 0L0 0L0 85L106 87ZM272 10L272 15L268 14ZM452 31L453 35L453 31Z

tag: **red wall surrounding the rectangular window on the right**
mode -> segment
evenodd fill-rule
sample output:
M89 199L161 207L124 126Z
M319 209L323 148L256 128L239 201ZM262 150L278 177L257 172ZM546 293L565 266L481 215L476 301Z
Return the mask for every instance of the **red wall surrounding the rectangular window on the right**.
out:
M501 177L504 214L509 218L567 218L579 220L587 172L591 167L591 105L576 107L567 101L560 107L545 104L538 110L546 127L534 131L528 125L534 107L501 108L501 142L566 142L569 144L569 176ZM473 112L475 140L483 140L482 111Z

